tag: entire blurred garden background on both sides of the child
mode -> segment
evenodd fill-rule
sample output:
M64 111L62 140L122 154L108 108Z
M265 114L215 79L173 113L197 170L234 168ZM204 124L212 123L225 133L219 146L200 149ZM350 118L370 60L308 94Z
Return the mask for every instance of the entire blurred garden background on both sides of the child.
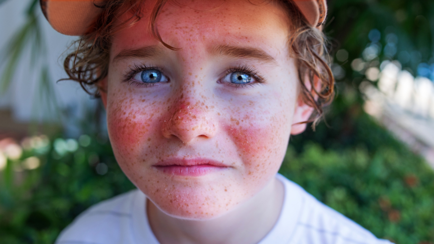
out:
M290 139L281 174L379 238L434 244L434 2L328 0L337 96ZM0 243L52 243L83 210L134 188L104 109L65 78L75 37L37 0L0 0Z

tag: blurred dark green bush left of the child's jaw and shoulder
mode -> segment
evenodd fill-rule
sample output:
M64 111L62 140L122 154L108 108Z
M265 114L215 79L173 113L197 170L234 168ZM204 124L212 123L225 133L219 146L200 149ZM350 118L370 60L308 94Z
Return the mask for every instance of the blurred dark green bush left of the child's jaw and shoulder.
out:
M51 244L89 206L134 188L107 138L78 142L57 138L7 161L0 177L0 243ZM31 156L40 167L23 170Z

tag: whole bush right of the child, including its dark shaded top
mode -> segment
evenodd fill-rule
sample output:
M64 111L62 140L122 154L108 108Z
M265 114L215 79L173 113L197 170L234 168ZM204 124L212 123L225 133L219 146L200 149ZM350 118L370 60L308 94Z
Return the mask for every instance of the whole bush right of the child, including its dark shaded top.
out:
M379 238L432 244L433 169L345 99L291 138L280 173Z

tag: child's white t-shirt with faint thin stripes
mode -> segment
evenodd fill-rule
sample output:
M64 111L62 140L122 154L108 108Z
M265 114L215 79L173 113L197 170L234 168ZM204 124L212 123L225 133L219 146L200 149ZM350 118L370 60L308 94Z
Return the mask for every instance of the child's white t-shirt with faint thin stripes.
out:
M259 244L391 244L379 240L277 174L285 186L279 219ZM146 196L133 190L92 206L62 231L56 244L159 244L146 214Z

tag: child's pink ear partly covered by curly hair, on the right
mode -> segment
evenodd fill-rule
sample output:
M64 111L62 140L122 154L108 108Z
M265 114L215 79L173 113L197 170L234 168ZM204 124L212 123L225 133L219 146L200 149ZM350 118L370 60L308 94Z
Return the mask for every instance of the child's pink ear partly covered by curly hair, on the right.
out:
M321 89L321 80L314 76L314 86L317 91ZM309 76L306 74L305 76L305 86L308 90L312 90L312 85L309 81ZM313 98L316 100L318 99L318 95L314 91L312 91ZM294 109L294 116L292 117L292 127L291 127L291 135L298 135L302 133L304 130L306 130L306 124L302 123L305 121L308 121L310 116L313 113L314 108L307 105L303 101L303 95L301 92L299 92L297 97L297 102L295 103L295 109Z

